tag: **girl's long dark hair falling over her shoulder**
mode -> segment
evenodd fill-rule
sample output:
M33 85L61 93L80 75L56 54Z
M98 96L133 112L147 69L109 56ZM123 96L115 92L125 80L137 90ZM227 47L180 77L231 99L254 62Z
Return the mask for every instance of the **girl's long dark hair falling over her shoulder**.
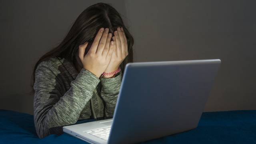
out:
M128 42L128 56L126 56L120 65L122 72L124 72L125 65L128 62L133 62L133 37L127 30L126 26L124 26L124 22L116 9L110 6L110 4L100 2L86 8L78 16L62 42L44 54L38 62L36 62L33 70L34 72L32 74L31 94L34 94L33 86L35 82L35 72L40 62L46 61L52 57L60 57L69 60L74 65L78 64L76 54L78 54L79 45L89 42L86 48L86 52L88 52L98 30L102 27L109 28L109 33L112 33L112 36L114 36L114 31L117 30L117 27L124 28Z

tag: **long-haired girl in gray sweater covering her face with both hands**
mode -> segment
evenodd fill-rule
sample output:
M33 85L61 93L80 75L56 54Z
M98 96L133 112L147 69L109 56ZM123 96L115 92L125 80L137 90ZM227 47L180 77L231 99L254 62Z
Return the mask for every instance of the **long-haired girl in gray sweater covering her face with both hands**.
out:
M34 124L39 138L78 120L111 118L134 40L109 4L86 8L64 40L34 67Z

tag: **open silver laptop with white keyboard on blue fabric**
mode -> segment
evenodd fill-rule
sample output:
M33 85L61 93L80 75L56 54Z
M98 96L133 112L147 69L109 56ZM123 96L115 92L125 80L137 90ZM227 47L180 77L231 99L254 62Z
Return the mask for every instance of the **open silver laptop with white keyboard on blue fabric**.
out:
M90 144L132 144L192 130L221 60L133 62L125 66L110 119L64 126Z

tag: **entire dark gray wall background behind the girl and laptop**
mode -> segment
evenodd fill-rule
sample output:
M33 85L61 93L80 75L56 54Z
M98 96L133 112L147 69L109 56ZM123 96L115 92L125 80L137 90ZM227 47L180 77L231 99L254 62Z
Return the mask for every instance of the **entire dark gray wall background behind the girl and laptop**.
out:
M256 109L255 1L0 1L0 109L33 113L32 68L78 15L111 3L134 36L135 62L220 58L205 111Z

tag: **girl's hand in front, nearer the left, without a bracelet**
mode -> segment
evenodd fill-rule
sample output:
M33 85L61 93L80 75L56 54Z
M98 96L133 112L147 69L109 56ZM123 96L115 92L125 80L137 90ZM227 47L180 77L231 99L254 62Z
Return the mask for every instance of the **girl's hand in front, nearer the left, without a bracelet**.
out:
M98 78L100 78L100 75L106 70L112 52L114 51L114 45L110 44L112 34L109 33L108 35L108 28L103 30L104 28L98 31L90 50L85 56L84 52L88 46L88 42L79 46L79 58L83 64L83 68L89 70Z

